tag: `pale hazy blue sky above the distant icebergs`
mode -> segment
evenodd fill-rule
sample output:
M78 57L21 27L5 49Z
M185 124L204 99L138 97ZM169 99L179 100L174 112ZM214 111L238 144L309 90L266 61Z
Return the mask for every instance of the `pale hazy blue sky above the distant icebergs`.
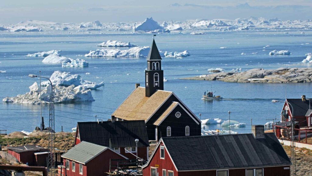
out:
M185 21L249 16L312 19L312 0L1 0L0 23L41 20L60 23Z

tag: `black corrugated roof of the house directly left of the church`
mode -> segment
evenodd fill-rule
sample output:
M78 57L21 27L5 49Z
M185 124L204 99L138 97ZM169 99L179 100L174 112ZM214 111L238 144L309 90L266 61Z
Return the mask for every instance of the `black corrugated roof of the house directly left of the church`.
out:
M81 141L110 147L135 147L135 139L139 139L138 147L149 147L144 120L78 122Z

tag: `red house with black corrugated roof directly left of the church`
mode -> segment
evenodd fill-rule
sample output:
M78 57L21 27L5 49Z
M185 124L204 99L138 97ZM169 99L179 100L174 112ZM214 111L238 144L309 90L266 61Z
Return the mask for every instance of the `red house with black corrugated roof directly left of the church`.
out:
M139 139L136 151L135 139ZM144 120L78 122L75 145L80 141L110 147L129 159L148 160L149 140ZM113 159L113 158L112 158Z

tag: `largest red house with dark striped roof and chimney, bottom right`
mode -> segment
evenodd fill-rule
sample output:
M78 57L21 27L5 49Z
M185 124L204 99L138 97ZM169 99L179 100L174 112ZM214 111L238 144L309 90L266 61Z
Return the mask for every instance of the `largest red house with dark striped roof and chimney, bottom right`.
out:
M289 176L290 160L274 133L163 137L144 176Z

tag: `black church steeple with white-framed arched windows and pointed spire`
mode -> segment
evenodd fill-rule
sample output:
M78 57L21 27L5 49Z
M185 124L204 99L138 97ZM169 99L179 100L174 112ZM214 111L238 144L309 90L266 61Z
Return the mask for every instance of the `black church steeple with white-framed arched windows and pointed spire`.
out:
M147 69L145 70L145 96L150 97L157 90L163 90L163 70L161 70L161 56L154 39L146 60Z

